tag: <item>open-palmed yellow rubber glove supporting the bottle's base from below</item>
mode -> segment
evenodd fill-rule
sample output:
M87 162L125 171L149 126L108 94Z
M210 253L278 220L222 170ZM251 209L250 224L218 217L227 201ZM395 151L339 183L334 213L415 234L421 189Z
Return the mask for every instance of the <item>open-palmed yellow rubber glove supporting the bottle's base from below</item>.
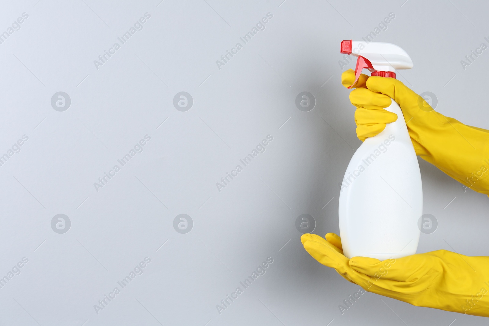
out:
M379 261L343 256L334 233L326 239L301 237L304 248L368 292L409 304L489 317L489 257L467 257L446 250Z

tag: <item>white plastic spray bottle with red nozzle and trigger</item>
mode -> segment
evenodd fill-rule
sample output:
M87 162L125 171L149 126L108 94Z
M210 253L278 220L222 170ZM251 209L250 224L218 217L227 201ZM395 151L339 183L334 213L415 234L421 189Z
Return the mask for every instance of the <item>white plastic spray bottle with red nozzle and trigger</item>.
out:
M363 68L372 76L396 78L396 69L413 67L409 55L391 43L343 41L341 53L358 58L355 82ZM348 258L383 261L413 255L418 248L422 215L418 159L399 105L392 100L385 109L396 113L397 121L365 139L341 185L339 230Z

